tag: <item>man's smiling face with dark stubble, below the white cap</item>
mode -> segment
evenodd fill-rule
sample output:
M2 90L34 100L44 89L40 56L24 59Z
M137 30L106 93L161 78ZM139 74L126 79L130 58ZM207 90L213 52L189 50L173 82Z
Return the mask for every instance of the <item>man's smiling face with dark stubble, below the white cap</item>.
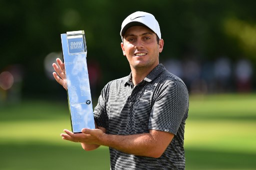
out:
M163 48L163 40L157 44L156 34L144 26L131 26L123 35L121 42L123 55L133 68L154 68L159 63L159 52Z

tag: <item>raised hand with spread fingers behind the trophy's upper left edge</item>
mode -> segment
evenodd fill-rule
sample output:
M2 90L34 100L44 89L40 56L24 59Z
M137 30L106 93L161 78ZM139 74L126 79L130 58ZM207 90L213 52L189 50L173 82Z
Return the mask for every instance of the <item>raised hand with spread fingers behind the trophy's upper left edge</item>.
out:
M52 72L55 80L62 85L65 89L67 89L67 84L66 84L66 74L65 74L65 65L64 63L57 58L56 59L58 65L56 63L52 63L52 66L56 72Z

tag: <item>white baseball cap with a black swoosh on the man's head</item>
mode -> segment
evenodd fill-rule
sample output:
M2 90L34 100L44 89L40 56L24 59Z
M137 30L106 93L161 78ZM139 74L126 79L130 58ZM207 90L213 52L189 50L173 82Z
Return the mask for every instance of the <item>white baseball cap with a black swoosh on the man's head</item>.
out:
M155 17L151 13L142 11L136 11L134 13L131 13L122 21L120 31L121 38L129 27L135 25L142 25L148 27L149 29L154 31L154 33L156 33L159 39L161 39L160 27Z

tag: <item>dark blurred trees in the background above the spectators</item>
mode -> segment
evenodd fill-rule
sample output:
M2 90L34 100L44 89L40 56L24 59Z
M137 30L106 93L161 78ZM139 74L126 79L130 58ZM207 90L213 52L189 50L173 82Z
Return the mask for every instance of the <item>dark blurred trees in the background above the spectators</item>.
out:
M119 31L122 20L137 10L153 13L160 24L165 42L161 60L226 55L256 62L253 0L0 0L0 6L0 71L22 64L24 94L61 90L44 75L43 60L61 51L60 34L70 30L85 30L87 59L102 70L98 93L107 81L127 75Z

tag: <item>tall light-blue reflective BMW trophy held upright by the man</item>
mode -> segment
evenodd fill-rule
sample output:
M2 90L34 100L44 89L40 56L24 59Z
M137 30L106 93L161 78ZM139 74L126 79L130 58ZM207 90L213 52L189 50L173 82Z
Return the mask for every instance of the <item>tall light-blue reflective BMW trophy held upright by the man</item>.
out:
M61 34L72 132L95 128L83 30Z

